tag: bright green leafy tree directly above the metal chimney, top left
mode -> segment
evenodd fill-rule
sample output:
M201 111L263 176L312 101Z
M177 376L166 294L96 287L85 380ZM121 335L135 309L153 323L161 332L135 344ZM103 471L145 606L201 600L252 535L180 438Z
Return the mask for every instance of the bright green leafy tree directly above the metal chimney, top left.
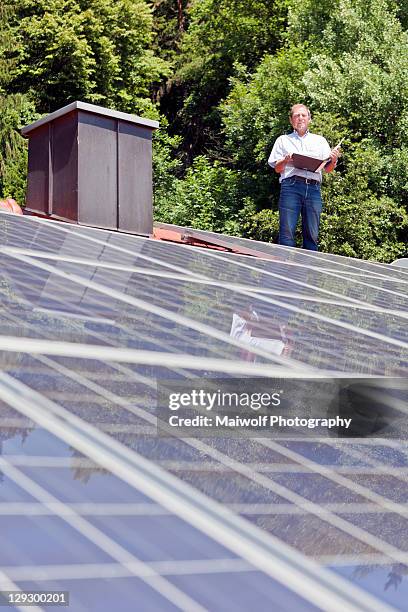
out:
M10 28L10 91L32 91L40 112L73 100L138 111L168 74L143 0L17 0Z

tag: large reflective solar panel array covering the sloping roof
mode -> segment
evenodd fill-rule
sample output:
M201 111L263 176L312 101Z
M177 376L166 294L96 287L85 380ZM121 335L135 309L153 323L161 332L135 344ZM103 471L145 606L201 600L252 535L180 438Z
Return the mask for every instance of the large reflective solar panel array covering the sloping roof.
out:
M405 440L159 437L155 408L157 380L406 377L408 272L0 230L0 590L75 612L406 607ZM269 342L237 332L248 309Z

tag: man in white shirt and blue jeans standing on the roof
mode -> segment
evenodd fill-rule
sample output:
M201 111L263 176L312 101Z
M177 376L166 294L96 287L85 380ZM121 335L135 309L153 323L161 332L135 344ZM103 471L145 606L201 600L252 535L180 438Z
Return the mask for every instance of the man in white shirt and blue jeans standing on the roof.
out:
M291 134L279 136L273 145L268 163L280 174L281 193L279 198L279 244L296 246L295 231L302 216L303 248L318 250L318 236L322 198L320 184L321 172L310 172L295 168L292 154L300 153L319 159L330 157L324 171L331 172L336 167L340 149L330 150L323 136L311 134L310 111L304 104L295 104L290 109L289 121L293 127Z

